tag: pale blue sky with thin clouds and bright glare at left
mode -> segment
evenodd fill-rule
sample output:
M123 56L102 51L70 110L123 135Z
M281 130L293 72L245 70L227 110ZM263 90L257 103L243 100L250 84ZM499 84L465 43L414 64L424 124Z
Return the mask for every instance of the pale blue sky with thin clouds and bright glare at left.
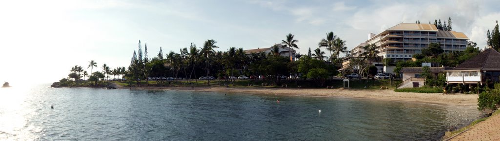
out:
M269 47L292 33L301 54L333 31L351 49L398 23L447 21L485 46L495 0L1 0L0 82L50 83L74 65L128 66L140 40L149 57L202 46ZM324 48L323 48L324 49ZM90 68L87 69L90 72ZM112 76L111 76L112 77Z

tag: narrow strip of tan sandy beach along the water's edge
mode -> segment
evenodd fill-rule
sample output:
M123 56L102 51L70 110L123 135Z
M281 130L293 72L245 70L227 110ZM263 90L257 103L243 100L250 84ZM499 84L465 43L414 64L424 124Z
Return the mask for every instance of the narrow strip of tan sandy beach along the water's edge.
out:
M477 94L442 94L394 92L392 89L326 89L326 88L259 88L259 87L136 87L137 89L193 90L238 93L286 94L295 96L340 96L355 98L376 98L402 102L422 102L440 105L477 106Z

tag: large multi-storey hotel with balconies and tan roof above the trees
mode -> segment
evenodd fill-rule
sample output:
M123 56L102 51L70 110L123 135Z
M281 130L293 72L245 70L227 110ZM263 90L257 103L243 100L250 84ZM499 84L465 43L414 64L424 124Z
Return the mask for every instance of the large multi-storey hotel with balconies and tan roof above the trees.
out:
M434 24L400 23L379 34L370 33L368 40L354 47L351 52L359 55L362 46L375 44L379 56L393 61L408 60L420 53L429 43L440 43L445 52L463 51L468 37L463 32L438 30Z

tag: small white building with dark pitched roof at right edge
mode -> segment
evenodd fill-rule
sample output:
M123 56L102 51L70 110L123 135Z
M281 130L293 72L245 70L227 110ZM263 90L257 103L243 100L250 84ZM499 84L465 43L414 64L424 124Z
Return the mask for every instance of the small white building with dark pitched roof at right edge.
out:
M499 82L500 53L488 48L476 56L460 63L456 67L445 70L446 83L484 84Z

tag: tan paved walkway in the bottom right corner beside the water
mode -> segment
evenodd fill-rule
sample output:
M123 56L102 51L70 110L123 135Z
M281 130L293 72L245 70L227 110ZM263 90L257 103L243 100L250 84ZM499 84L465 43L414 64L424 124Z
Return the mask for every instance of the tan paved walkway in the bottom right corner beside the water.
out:
M492 115L448 140L500 140L500 114Z

